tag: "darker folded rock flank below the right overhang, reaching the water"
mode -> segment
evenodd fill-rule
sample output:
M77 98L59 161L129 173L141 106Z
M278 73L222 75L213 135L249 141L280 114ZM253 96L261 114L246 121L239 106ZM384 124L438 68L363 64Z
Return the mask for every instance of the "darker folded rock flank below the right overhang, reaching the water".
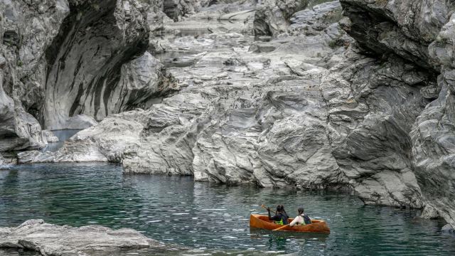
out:
M428 103L419 87L434 76L392 56L348 57L321 84L338 165L367 203L421 208L409 133Z

